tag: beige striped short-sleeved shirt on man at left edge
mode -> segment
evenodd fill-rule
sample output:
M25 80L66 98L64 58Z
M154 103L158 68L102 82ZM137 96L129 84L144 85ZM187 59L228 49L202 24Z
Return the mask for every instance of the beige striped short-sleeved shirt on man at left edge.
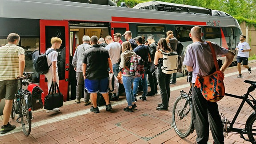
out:
M0 81L15 80L19 76L19 55L24 55L23 48L15 44L0 47Z

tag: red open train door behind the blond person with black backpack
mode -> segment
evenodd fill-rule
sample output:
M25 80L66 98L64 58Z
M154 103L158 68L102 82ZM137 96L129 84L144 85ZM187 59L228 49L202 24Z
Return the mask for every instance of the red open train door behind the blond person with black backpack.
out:
M64 96L64 101L68 98L68 72L69 72L69 22L66 20L40 20L40 53L45 53L47 48L52 46L51 38L59 37L62 40L58 52L58 75L60 92ZM40 75L40 87L44 94L48 94L47 79Z

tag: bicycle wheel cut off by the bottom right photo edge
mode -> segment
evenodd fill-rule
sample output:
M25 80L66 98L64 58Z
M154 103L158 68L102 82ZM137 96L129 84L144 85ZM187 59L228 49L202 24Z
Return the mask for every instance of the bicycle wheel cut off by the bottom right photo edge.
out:
M256 113L253 112L251 116L249 116L248 120L245 124L245 129L247 132L252 132L256 134ZM248 134L249 140L251 140L252 144L256 143L256 135L253 135L252 133Z

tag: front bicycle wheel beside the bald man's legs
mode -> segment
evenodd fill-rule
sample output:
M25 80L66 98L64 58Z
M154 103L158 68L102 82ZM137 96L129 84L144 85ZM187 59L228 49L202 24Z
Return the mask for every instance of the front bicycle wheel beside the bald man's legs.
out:
M174 103L172 124L175 132L181 138L187 137L194 130L191 108L191 101L184 97L179 96Z

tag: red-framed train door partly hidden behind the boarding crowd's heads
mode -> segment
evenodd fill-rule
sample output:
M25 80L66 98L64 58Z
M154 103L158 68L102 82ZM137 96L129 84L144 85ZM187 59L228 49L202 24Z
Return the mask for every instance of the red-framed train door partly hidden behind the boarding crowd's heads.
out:
M112 36L112 38L114 37L113 35L116 32L119 32L121 35L123 35L125 31L129 30L129 24L127 24L127 23L110 23L110 25L111 25L111 36ZM124 39L124 36L121 37L121 40L126 41Z

